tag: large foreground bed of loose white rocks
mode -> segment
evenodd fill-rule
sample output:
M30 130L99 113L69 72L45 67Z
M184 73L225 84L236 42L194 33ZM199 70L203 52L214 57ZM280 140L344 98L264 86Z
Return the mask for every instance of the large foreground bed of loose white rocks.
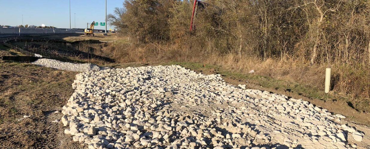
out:
M177 65L82 72L72 86L64 132L91 149L341 149L364 136L309 102Z

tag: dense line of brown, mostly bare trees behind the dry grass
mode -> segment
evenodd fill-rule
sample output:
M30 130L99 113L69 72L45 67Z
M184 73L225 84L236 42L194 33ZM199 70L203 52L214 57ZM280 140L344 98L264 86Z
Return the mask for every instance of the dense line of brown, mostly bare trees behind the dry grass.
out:
M138 43L202 54L370 64L369 0L125 0L109 22Z

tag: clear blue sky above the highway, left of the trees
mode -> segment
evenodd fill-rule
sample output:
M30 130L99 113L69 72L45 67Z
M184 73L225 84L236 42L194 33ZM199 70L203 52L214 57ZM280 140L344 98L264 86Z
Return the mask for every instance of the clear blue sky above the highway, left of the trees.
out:
M107 0L107 14L115 7L123 7L124 0ZM0 0L0 25L17 26L22 24L56 26L69 28L69 0ZM105 22L105 0L71 0L71 27L86 28L87 22ZM113 28L108 25L108 29ZM105 29L105 26L95 26Z

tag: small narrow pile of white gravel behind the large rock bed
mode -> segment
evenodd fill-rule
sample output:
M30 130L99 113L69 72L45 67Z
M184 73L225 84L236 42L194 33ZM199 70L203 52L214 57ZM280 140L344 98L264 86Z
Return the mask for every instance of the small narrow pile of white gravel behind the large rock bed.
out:
M68 70L68 71L78 71L78 72L84 72L84 71L99 71L107 69L106 67L99 67L95 64L85 63L85 64L75 64L75 63L68 63L48 58L40 58L31 64L43 66L43 67L50 67L55 68L59 70Z

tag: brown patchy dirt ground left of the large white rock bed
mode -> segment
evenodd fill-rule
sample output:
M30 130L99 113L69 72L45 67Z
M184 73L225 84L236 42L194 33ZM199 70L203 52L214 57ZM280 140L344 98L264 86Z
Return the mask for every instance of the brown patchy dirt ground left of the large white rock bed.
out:
M21 63L0 68L0 148L81 148L52 123L73 93L76 72Z

